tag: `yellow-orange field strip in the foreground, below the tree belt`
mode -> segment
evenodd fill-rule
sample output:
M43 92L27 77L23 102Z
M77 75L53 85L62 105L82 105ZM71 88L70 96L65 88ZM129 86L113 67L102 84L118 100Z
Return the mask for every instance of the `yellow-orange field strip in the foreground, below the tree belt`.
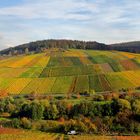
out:
M39 131L0 128L0 140L139 140L140 136L65 135Z

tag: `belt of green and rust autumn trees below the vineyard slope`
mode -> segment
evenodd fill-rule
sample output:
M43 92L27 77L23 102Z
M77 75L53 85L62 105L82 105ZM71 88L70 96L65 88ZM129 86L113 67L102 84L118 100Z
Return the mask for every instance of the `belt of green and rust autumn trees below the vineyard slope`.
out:
M139 96L94 95L80 103L65 98L39 98L0 99L0 114L5 118L1 126L53 133L70 130L99 135L140 133Z

